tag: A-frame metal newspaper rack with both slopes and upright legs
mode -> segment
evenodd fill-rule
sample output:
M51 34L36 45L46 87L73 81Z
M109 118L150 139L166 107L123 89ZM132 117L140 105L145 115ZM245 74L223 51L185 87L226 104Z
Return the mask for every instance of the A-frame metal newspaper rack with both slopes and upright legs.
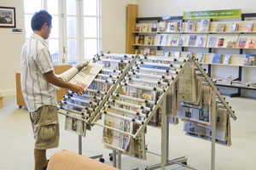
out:
M153 63L148 62L148 60L153 61L160 61L162 60L163 63ZM180 62L177 64L177 62ZM212 88L212 105L216 105L216 107L212 107L212 156L211 156L211 169L215 169L215 130L216 130L216 108L217 105L222 105L227 111L230 116L234 120L236 120L235 112L231 110L228 103L224 100L222 95L218 92L218 88L215 87L215 85L212 83L210 77L207 76L201 65L197 62L197 60L192 57L191 59L173 59L173 58L166 58L166 57L154 57L154 56L139 56L138 61L135 65L132 66L131 71L128 72L125 79L119 83L119 86L116 88L116 90L111 94L110 98L108 99L108 102L104 105L104 107L101 109L100 113L95 117L95 119L92 122L92 125L98 125L101 127L104 127L105 130L113 130L118 133L124 133L124 135L129 135L133 139L139 139L140 135L145 130L145 127L148 125L148 122L152 119L152 117L156 114L158 111L158 108L161 106L161 117L165 117L161 119L161 162L160 164L156 164L153 166L148 166L146 169L155 169L160 168L165 169L167 166L170 166L172 164L179 164L183 167L189 167L186 166L187 158L185 156L169 160L169 119L166 117L166 95L172 91L172 88L175 85L175 82L177 82L178 77L180 76L180 73L183 71L183 68L188 65L189 62L194 62L195 67L197 71L199 71L201 74L201 77L204 77L206 79L206 82L211 86ZM168 63L168 64L166 64ZM152 67L147 68L145 65L151 65ZM169 68L168 68L169 67ZM160 69L158 69L160 68ZM163 68L168 68L164 69ZM174 69L173 69L174 68ZM140 72L140 71L143 71ZM145 72L159 72L160 75L152 75L152 74L145 74ZM168 74L169 76L165 76ZM170 77L170 75L172 75ZM148 77L148 79L154 78L154 80L142 80L137 77ZM136 82L136 83L132 83ZM154 84L153 87L143 86L143 85L136 85L138 83L149 83ZM161 88L159 88L159 86ZM122 94L122 89L124 87L130 87L130 88L142 88L146 90L156 91L160 93L160 97L157 101L150 100L150 99L140 99L135 98L131 96L127 96ZM156 88L157 87L157 88ZM122 99L120 101L120 99ZM218 100L217 100L218 99ZM147 107L145 105L134 105L129 102L124 102L124 100L133 100L139 103L143 103L145 105L151 105L151 107ZM129 111L125 110L124 108L118 107L118 105L126 105L131 108L137 108L137 110L141 111ZM132 116L124 116L122 114L116 114L117 112L122 112ZM146 114L145 114L146 113ZM136 133L127 133L125 131L122 131L118 128L109 127L106 124L100 124L97 122L97 120L102 116L102 114L106 116L113 116L120 119L124 119L126 121L135 122L140 127L137 129ZM143 119L139 120L137 117L143 117ZM143 121L142 121L143 120ZM116 151L113 150L113 167L116 167ZM121 151L118 151L118 168L121 168ZM195 169L193 167L189 167L190 169Z

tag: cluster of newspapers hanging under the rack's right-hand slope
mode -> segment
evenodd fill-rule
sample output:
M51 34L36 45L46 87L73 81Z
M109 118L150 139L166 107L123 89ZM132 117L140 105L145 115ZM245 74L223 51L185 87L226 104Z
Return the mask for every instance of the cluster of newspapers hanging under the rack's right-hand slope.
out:
M181 88L177 93L180 100L177 117L183 120L183 131L189 136L211 140L212 107L217 107L216 142L229 146L230 116L223 106L212 105L212 88L196 75L193 64L179 78L178 89Z

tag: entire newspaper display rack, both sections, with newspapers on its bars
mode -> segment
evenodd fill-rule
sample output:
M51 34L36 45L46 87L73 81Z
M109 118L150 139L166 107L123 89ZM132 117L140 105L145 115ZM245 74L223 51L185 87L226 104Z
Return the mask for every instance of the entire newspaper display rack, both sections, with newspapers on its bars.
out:
M211 130L211 169L215 169L215 132L218 107L224 108L227 115L234 120L236 120L236 115L194 57L183 59L147 55L102 54L96 56L94 62L103 64L104 67L85 91L83 99L69 91L61 100L59 113L84 122L82 125L85 127L81 127L85 129L90 129L94 125L103 127L104 144L113 150L113 167L121 168L121 154L146 159L145 132L147 125L151 125L161 126L161 162L148 166L146 169L166 169L172 164L195 169L186 165L187 158L185 156L169 159L169 123L177 123L178 117L177 110L173 110L173 108L175 105L182 107L189 103L179 102L175 99L178 96L175 96L174 92L179 93L183 90L178 89L177 84L183 78L185 69L190 66L195 68L196 76L201 77L200 82L207 84L212 89L210 95L211 115L209 115L207 127L210 127ZM123 66L120 66L122 64ZM171 99L169 99L170 97ZM175 100L178 101L178 104L173 102ZM97 122L102 115L104 115L104 124ZM71 124L73 125L73 122ZM75 127L75 129L78 128ZM80 154L81 134L83 133L79 134ZM118 139L114 139L113 136ZM116 166L117 152L118 165Z

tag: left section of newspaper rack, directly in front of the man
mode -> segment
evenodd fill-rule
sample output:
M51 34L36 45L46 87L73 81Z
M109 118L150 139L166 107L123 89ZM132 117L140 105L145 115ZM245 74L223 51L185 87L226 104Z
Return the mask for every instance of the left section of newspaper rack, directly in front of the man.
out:
M136 59L137 55L131 54L97 54L93 62L103 64L102 71L97 74L83 95L80 96L70 90L67 91L58 105L58 113L79 120L82 122L81 128L85 126L90 129L90 122L98 114L102 105L108 100L111 92L125 77L125 73L129 71ZM82 136L80 134L79 154L82 154ZM102 157L102 155L93 156L93 158L97 157ZM101 159L101 161L104 160Z

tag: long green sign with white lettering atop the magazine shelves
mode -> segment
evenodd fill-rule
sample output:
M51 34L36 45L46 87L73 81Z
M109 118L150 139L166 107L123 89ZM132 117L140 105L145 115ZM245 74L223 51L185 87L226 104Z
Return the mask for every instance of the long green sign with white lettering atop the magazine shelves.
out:
M183 12L183 20L241 18L241 9Z

